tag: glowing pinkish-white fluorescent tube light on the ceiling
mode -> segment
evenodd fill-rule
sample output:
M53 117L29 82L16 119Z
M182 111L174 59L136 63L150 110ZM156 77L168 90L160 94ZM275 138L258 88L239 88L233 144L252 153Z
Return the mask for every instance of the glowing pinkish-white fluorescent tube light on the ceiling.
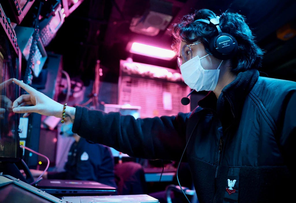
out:
M141 44L137 42L134 42L132 44L130 52L165 60L171 60L176 56L176 53L172 50L150 46L147 44Z

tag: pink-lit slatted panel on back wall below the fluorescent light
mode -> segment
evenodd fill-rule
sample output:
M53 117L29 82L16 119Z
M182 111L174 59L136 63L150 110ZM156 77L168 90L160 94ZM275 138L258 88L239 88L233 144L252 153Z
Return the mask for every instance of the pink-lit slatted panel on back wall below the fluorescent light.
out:
M189 93L189 88L185 84L127 75L121 76L120 81L118 104L141 106L142 118L176 115L178 112L190 111L190 105L181 104L181 98ZM164 107L164 92L169 96L171 109Z

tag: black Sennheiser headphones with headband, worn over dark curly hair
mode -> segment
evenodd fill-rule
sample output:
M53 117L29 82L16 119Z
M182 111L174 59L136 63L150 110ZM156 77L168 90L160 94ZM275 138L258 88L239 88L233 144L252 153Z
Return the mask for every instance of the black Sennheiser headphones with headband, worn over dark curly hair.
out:
M221 31L219 27L219 19L220 16L217 16L216 18L210 18L210 21L198 19L194 22L204 22L217 28L218 35L210 40L210 51L217 59L228 60L231 59L237 52L237 40L232 35Z

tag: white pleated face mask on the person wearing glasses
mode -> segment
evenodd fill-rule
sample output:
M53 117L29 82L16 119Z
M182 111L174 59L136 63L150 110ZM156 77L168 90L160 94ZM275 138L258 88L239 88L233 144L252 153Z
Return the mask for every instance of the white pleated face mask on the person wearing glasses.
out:
M214 70L205 70L202 68L200 64L200 59L209 56L209 54L199 57L195 56L194 58L186 61L184 64L180 66L181 74L184 79L186 85L188 85L191 89L198 91L213 91L215 90L219 73L220 73L220 66L223 62L221 61L220 65L217 69Z

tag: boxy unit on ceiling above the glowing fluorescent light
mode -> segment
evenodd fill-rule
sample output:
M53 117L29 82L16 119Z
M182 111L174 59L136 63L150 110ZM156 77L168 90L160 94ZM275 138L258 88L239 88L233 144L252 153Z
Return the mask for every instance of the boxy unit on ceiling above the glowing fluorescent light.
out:
M165 30L172 20L171 2L150 0L150 8L142 15L133 17L130 30L149 36L155 36L160 30Z

